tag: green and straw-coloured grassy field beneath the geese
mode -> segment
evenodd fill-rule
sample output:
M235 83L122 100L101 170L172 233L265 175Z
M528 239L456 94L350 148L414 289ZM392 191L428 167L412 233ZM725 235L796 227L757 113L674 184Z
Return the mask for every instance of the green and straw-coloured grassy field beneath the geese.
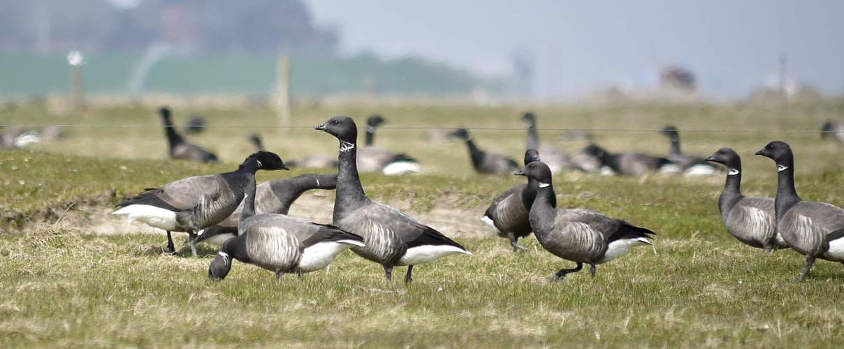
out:
M517 106L311 106L295 123L317 125L330 115L361 120L381 112L389 126L521 127ZM808 200L844 206L844 174L835 143L815 130L841 117L840 102L791 105L630 105L538 108L540 127L653 130L670 121L684 150L708 155L730 146L744 155L744 191L772 196L774 165L751 154L772 139L793 144L798 191ZM268 110L200 111L212 125L272 125ZM333 154L336 141L305 128L213 128L195 137L225 164L165 160L165 142L151 109L95 109L79 119L53 119L39 105L0 112L2 123L77 124L68 138L33 150L0 151L0 346L834 346L844 341L844 268L820 262L808 282L791 280L803 267L793 251L766 255L739 244L722 228L716 200L722 176L649 175L615 178L559 175L561 207L587 207L656 231L656 252L640 248L598 266L598 276L549 277L571 262L541 249L513 254L478 217L496 193L522 178L478 176L459 142L426 140L424 130L383 130L378 143L425 164L425 175L364 175L368 194L416 216L467 212L470 228L447 221L435 228L472 256L419 266L414 282L386 282L380 266L345 253L326 271L277 282L272 273L235 263L224 282L208 282L215 250L201 258L160 255L163 234L127 234L106 207L145 187L235 167L261 131L283 158ZM141 125L129 129L90 127ZM475 132L476 140L521 158L523 132ZM582 140L543 132L571 152ZM596 132L610 149L665 153L656 132ZM220 139L225 139L221 142ZM263 173L259 180L303 171ZM330 212L331 197L321 199ZM323 202L324 201L324 202ZM318 206L317 206L318 208ZM99 211L98 211L99 210ZM458 216L459 217L459 216ZM64 218L64 219L62 219ZM114 222L113 231L89 228ZM463 227L463 226L461 226ZM183 244L183 238L177 240ZM399 272L403 272L403 269ZM397 278L400 279L400 278Z

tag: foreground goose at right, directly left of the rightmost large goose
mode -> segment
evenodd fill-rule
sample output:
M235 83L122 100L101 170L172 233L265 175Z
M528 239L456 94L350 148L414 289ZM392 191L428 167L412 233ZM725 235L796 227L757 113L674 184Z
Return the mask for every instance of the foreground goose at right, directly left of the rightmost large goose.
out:
M718 196L718 211L727 231L749 246L773 252L787 248L774 225L774 200L741 194L741 158L731 148L721 148L706 161L727 167L727 182Z

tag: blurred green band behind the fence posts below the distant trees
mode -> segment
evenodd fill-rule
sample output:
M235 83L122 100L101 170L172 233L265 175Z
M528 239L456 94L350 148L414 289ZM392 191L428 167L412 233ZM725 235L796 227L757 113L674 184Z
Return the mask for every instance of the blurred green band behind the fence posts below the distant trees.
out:
M170 56L149 70L145 92L175 94L237 93L266 95L273 88L276 57L252 55ZM128 80L140 56L90 56L84 66L87 93L127 94ZM291 90L295 97L360 93L450 95L475 88L503 92L505 83L414 58L381 60L375 56L293 58ZM0 54L0 96L28 96L68 90L64 56Z

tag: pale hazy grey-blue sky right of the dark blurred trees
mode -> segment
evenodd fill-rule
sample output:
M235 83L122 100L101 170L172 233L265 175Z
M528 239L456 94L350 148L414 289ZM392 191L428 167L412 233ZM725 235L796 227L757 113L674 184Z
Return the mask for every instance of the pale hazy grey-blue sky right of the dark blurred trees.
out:
M346 52L415 54L484 74L535 56L536 90L571 97L609 84L652 86L657 67L692 68L716 96L743 96L789 75L844 91L844 1L306 0L336 24Z

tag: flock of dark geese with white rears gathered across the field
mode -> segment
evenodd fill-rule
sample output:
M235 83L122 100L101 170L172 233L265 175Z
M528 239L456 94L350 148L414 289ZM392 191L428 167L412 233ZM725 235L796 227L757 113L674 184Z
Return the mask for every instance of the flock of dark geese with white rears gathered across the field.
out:
M176 132L169 109L159 111L171 157L208 161L208 155L213 156L187 143ZM721 148L707 158L686 155L680 151L679 131L674 126L666 126L661 132L670 140L668 156L609 153L589 138L590 144L581 158L594 163L582 166L574 161L576 157L539 142L533 113L524 114L522 121L527 122L527 150L522 166L500 153L481 150L467 129L457 129L451 135L466 143L477 172L526 177L525 183L495 196L481 221L507 239L514 252L524 253L527 249L518 240L533 234L551 255L574 263L571 268L556 271L550 278L552 282L581 271L584 265L594 277L598 265L625 255L633 247L652 246L657 235L625 219L584 207L557 207L553 179L555 173L565 171L714 175L722 173L722 167L726 170L726 181L717 208L729 234L768 253L791 249L803 255L806 266L797 281L809 276L818 259L844 264L844 209L824 202L803 201L798 196L793 152L785 142L770 142L756 153L776 163L776 196L750 197L741 191L742 165L738 153L732 148ZM288 169L288 166L278 155L266 151L256 134L249 140L257 152L248 156L238 169L188 177L145 190L122 201L112 214L164 230L166 252L170 254L176 253L173 232L187 233L194 256L197 243L219 246L208 268L211 280L227 277L233 260L273 271L276 277L301 276L326 268L337 255L351 250L380 265L387 280L392 280L396 267L406 266L404 282L411 282L414 266L448 255L472 253L435 228L366 196L360 182L361 172L398 175L419 171L419 164L413 158L375 148L376 128L383 123L379 115L367 120L362 147L358 144L357 125L349 117L335 116L316 126L316 130L326 132L338 142L336 173L299 175L258 185L255 180L258 170ZM176 154L193 155L177 157ZM401 170L387 171L397 164ZM565 190L565 183L559 188ZM314 223L288 215L294 201L311 190L334 190L331 223Z

